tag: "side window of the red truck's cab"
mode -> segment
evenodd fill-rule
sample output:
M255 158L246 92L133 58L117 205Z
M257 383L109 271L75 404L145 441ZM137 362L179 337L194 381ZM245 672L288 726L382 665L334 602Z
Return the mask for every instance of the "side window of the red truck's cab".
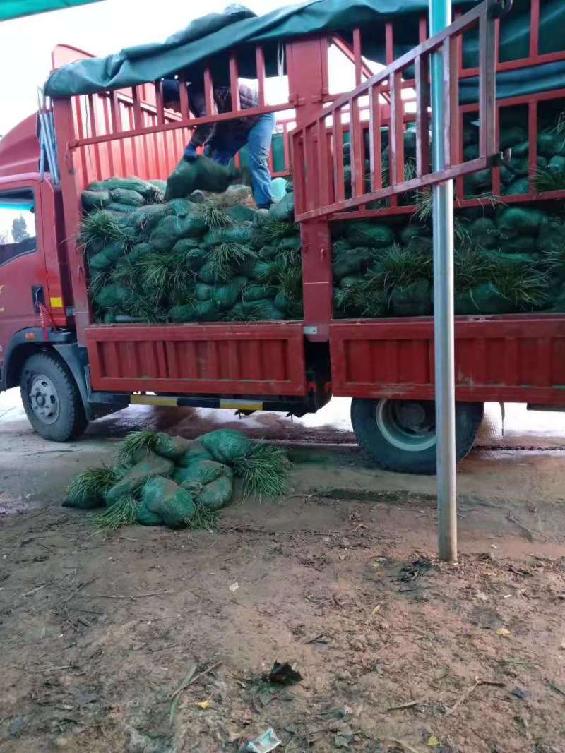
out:
M0 193L0 267L36 250L33 191Z

